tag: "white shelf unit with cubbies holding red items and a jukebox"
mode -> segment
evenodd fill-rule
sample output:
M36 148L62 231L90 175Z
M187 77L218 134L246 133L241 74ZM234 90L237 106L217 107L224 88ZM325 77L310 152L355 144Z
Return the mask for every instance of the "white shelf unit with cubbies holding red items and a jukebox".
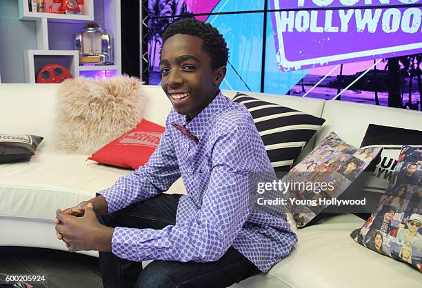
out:
M121 74L121 11L120 0L85 0L83 11L86 15L66 15L29 12L28 0L19 1L19 17L23 21L35 21L37 28L37 50L24 50L23 61L27 83L35 83L39 63L46 59L66 63L75 78L84 72L105 72ZM22 16L21 16L22 15ZM88 20L87 20L88 19ZM114 48L113 65L79 66L79 55L72 47L72 35L88 22L95 21L112 34ZM60 61L60 57L63 57ZM69 59L72 58L72 61ZM52 62L54 63L54 62ZM59 63L60 64L60 63ZM106 74L106 73L104 73Z

